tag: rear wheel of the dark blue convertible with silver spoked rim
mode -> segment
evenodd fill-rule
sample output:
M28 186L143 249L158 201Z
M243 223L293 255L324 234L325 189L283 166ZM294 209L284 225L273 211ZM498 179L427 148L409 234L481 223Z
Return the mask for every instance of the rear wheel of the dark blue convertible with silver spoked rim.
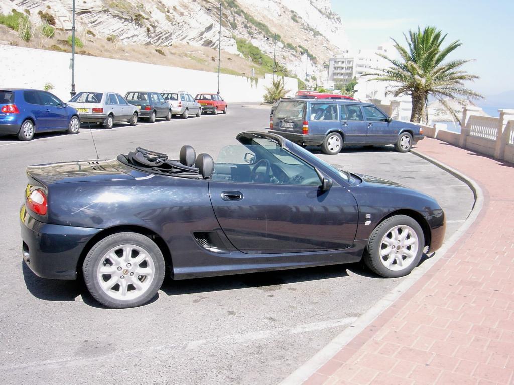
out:
M109 235L91 247L82 266L95 299L108 307L134 307L155 296L164 279L159 247L138 233Z

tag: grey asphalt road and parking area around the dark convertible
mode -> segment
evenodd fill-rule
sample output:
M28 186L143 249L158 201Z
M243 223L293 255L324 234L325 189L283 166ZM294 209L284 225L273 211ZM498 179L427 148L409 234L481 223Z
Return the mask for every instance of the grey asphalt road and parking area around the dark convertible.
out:
M35 277L21 260L18 214L30 164L101 158L136 146L178 156L183 144L216 158L245 130L262 130L267 109L231 106L203 115L112 130L82 127L76 136L32 142L0 138L0 381L25 384L273 384L321 349L401 281L361 264L186 281L166 280L148 305L110 310L80 281ZM353 172L413 187L446 211L447 234L467 217L469 188L436 166L392 147L319 155Z

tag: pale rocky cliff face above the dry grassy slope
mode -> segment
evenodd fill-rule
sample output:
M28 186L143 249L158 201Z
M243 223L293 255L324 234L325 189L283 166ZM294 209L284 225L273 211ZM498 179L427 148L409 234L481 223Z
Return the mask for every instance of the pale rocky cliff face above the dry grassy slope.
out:
M323 76L323 62L348 48L340 17L330 0L221 0L222 49L251 56L252 46L301 79ZM123 44L173 47L175 43L217 48L218 0L76 0L79 36L116 38ZM0 0L0 10L12 8L51 14L55 26L71 28L71 0ZM252 60L262 61L259 55ZM259 63L258 63L259 64Z

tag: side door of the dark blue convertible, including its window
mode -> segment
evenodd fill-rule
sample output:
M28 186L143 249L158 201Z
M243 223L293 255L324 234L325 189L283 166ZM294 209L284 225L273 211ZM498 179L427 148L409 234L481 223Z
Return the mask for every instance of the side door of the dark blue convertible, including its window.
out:
M298 175L290 174L291 178L285 178L277 174L277 178L283 179L258 178L258 182L252 182L244 175L248 163L240 160L230 165L237 174L213 176L209 181L214 213L232 244L249 254L350 247L358 219L357 202L351 192L337 184L328 191L321 191L313 167L280 146L273 151L278 154L277 158L267 160L274 172L278 173L276 167L281 167ZM259 159L259 156L250 153L250 158ZM262 167L266 163L263 159L261 157L260 162L250 168ZM302 181L308 184L300 184Z

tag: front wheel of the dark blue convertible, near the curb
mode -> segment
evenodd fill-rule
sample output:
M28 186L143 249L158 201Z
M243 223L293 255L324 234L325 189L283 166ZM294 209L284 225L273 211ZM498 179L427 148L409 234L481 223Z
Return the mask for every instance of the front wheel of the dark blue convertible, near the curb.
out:
M395 215L373 230L364 262L382 277L402 277L417 266L424 246L419 224L409 216Z

